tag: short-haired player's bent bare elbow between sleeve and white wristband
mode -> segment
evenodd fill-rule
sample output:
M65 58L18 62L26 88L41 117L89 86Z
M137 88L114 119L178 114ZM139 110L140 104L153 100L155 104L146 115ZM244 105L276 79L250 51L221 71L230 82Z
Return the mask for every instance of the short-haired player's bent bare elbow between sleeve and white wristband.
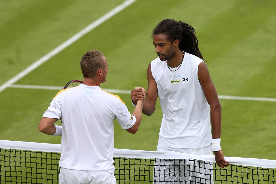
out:
M56 132L56 128L54 123L58 119L56 118L42 118L40 123L39 123L39 131L46 133L48 135L54 135Z

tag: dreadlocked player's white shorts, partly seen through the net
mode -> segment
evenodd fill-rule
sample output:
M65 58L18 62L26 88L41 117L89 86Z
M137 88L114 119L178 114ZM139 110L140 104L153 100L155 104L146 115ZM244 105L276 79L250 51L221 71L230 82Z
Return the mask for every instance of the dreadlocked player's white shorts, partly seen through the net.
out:
M211 145L205 148L168 148L158 145L157 151L176 151L196 155L212 155ZM154 162L154 184L213 184L213 164L199 160L158 160ZM182 181L182 182L181 182ZM184 182L185 181L185 182Z

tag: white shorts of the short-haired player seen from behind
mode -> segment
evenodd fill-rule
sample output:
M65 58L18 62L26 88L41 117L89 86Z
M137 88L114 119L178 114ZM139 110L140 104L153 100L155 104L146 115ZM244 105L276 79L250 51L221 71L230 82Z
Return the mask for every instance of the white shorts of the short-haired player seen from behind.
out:
M60 168L60 184L116 184L114 174L107 171L80 171Z

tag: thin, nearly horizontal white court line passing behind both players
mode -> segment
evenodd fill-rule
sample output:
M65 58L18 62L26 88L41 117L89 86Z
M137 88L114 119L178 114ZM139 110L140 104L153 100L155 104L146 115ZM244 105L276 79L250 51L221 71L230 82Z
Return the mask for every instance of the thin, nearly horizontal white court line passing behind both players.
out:
M26 89L45 89L45 90L61 90L63 86L36 86L36 85L20 85L12 84L10 88L26 88ZM120 93L120 94L130 94L131 90L116 90L116 89L102 89L109 93ZM276 102L276 98L260 98L260 97L248 97L248 96L226 96L218 95L220 99L230 99L230 100L252 100L252 101L265 101L265 102Z

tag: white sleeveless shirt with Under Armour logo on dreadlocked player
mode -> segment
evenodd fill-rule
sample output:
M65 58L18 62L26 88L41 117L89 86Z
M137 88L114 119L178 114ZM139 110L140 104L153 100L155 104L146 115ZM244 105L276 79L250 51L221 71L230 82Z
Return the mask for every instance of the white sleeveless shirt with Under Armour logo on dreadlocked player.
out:
M159 58L151 62L163 112L159 145L204 148L211 144L210 106L198 80L201 62L189 53L185 53L177 71L170 71L167 62Z

